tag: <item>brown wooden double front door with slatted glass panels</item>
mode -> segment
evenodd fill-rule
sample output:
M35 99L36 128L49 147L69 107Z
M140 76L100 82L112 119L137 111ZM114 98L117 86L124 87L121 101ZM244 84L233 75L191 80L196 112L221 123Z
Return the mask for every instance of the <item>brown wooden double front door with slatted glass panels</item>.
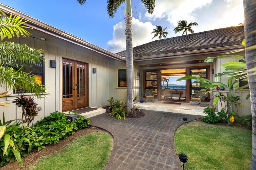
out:
M88 64L62 59L62 111L88 106Z

